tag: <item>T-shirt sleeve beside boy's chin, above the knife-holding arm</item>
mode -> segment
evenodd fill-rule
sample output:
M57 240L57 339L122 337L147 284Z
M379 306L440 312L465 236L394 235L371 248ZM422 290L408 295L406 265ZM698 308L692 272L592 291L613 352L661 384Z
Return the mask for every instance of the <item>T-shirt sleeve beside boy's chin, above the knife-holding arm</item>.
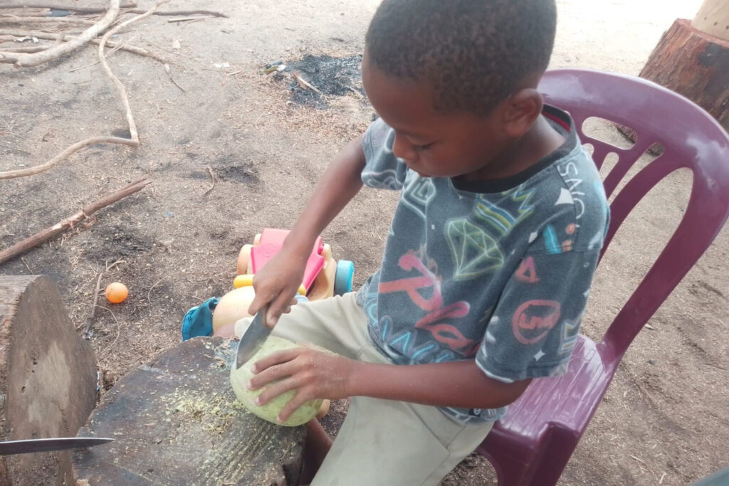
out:
M395 133L381 118L376 119L362 136L366 164L362 182L374 189L402 189L408 166L392 153Z

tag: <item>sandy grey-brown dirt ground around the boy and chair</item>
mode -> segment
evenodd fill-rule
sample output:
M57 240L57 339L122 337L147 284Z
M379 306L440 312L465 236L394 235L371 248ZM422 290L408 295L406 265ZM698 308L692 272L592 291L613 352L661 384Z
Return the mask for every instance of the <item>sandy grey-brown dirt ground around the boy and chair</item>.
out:
M290 227L338 147L367 126L373 110L357 85L327 96L326 106L300 106L289 101L290 72L276 81L262 69L308 54L361 53L377 4L173 0L163 9L229 17L152 17L117 39L168 59L185 90L156 60L123 51L110 58L128 90L141 146L93 146L45 173L0 181L0 248L7 248L130 181L152 179L139 194L0 265L7 275L49 275L81 332L97 275L116 262L103 283L126 283L130 297L102 304L90 340L106 388L175 346L187 309L232 289L243 243L264 227ZM552 66L638 74L660 34L700 4L558 0ZM87 136L125 133L109 79L98 65L82 67L95 60L85 47L39 68L0 65L0 171L37 165ZM613 130L597 130L622 143ZM688 174L670 176L618 233L583 323L593 339L670 236L689 184ZM395 197L364 190L324 232L335 257L354 261L355 286L378 266ZM728 259L725 230L636 338L561 485L685 485L728 465ZM335 404L327 419L332 432L343 410ZM491 482L488 463L472 456L443 484Z

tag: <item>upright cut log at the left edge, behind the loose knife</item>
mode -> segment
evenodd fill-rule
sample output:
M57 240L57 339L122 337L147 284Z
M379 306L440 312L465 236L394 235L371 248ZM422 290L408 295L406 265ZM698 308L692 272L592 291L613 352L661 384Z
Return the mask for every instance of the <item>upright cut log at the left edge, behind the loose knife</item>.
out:
M96 359L42 275L0 276L0 440L72 437L96 403ZM0 485L62 485L71 454L0 456Z

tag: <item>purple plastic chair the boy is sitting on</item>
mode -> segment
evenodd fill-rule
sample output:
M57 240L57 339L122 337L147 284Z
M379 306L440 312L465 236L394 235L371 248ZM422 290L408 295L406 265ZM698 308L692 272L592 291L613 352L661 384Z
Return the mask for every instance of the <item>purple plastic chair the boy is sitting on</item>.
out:
M691 101L644 79L581 69L547 71L539 90L547 103L572 114L582 142L595 148L598 167L610 152L618 155L604 180L608 196L646 149L655 142L664 147L615 197L605 248L628 213L669 173L690 169L693 187L677 230L601 342L580 334L566 374L534 380L478 447L506 486L556 484L628 346L729 216L729 136ZM588 117L636 130L636 144L619 149L585 136Z

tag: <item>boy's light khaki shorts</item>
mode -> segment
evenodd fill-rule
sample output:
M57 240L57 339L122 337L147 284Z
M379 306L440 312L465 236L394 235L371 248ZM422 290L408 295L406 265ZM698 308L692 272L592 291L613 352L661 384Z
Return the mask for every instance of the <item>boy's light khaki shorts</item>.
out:
M235 334L240 336L249 322L238 321ZM281 316L272 334L358 361L391 364L370 340L367 316L354 293L297 304ZM436 407L354 396L311 485L437 485L475 450L492 425L460 423Z

